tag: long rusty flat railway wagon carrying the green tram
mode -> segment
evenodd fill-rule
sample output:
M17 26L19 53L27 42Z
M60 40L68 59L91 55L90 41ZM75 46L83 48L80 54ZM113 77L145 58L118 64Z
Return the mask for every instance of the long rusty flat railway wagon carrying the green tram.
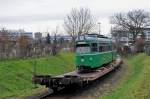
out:
M101 67L97 70L93 70L92 72L88 73L80 73L77 70L75 70L73 72L58 75L55 77L52 77L50 75L34 75L33 83L46 85L46 87L49 87L54 91L73 84L87 84L119 67L121 63L121 58L117 58L116 61L114 61L113 63L110 63L104 67Z

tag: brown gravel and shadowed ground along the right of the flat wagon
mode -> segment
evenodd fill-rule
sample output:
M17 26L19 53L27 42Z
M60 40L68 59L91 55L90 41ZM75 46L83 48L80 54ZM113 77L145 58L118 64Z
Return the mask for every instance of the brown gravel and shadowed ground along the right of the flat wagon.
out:
M127 66L123 64L117 70L103 76L88 86L66 89L58 94L52 94L45 99L99 99L100 95L104 92L110 92L118 84L126 70Z

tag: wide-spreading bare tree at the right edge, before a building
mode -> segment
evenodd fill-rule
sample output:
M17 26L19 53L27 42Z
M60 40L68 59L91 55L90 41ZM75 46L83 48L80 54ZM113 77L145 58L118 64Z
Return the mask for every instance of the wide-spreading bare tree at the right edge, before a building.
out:
M143 34L143 28L150 26L150 14L144 10L132 10L128 13L118 13L111 18L115 27L122 28L133 35L135 43L137 35Z

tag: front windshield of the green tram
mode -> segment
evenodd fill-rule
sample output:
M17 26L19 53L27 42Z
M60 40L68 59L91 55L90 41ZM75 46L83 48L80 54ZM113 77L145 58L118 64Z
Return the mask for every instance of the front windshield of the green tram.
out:
M90 52L90 46L88 44L76 45L76 53L84 54Z

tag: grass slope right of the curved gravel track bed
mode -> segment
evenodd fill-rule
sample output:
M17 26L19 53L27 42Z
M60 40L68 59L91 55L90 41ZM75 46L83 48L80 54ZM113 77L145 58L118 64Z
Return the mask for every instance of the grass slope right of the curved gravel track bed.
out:
M117 88L100 99L150 99L150 56L140 53L125 63L128 70Z

